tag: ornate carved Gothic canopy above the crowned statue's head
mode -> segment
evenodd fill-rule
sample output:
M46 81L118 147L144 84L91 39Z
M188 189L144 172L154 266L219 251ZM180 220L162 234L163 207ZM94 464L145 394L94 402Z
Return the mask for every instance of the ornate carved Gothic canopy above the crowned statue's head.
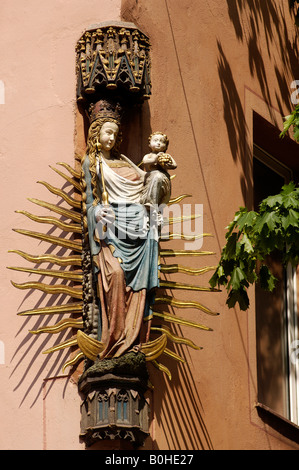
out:
M150 42L132 23L96 25L77 43L77 100L117 90L132 102L150 97Z

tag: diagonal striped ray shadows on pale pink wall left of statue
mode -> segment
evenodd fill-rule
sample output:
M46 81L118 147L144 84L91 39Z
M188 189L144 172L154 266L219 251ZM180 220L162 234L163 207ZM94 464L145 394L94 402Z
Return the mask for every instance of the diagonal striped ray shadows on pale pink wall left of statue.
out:
M74 197L75 191L74 188L70 185L70 183L65 183L61 186L61 189L69 196ZM49 198L45 198L47 201ZM57 207L64 207L70 209L65 204L65 201L62 199L58 199L55 201L55 205ZM37 214L39 211L33 210L33 214ZM52 216L52 214L51 214ZM64 216L55 217L60 222L70 223L70 220ZM64 232L56 226L51 226L49 228L49 224L44 223L37 223L34 227L29 227L26 224L28 221L25 218L24 227L28 230L32 230L34 232L44 233L45 235L54 235L59 238L73 238L72 232ZM46 226L48 230L43 230L43 226ZM23 235L21 235L23 237ZM27 237L26 237L27 238ZM24 252L26 250L26 239L23 237L24 240ZM20 242L20 244L22 241ZM44 245L45 244L45 245ZM64 247L57 247L54 244L49 244L46 242L40 242L38 245L40 252L38 255L57 255L57 256L69 256L70 250ZM22 250L21 250L22 251ZM31 254L31 253L29 253ZM75 253L74 253L75 254ZM77 253L78 254L78 253ZM36 256L36 253L35 253ZM50 262L42 262L42 263L32 263L30 266L28 262L22 262L22 257L18 256L14 259L14 262L11 263L11 266L24 266L29 269L49 269L49 270L59 270L60 272L67 271L68 269L72 269L72 266L60 267L56 264ZM79 268L79 267L77 267ZM10 279L14 280L14 273L15 271L10 270ZM49 286L69 286L69 287L78 287L77 283L73 281L69 281L67 279L59 279L55 277L51 277L48 275L41 275L39 273L23 273L23 280L20 283L27 283L27 282L38 282L44 283ZM79 302L78 299L71 298L69 295L64 293L57 293L57 294L49 294L43 292L40 294L38 300L37 293L38 290L35 288L28 288L26 289L26 293L22 299L22 302L19 305L17 314L22 313L23 311L33 310L38 308L44 307L51 307L51 306L58 306L58 305L67 305L68 303ZM30 299L33 300L33 304L28 307L30 304ZM26 306L26 307L25 307ZM72 318L76 318L76 315L71 315ZM57 352L53 352L52 354L45 354L42 353L54 345L58 345L63 341L71 338L74 334L74 331L70 329L66 329L64 331L58 332L57 334L49 334L49 333L41 333L38 335L30 333L30 331L35 331L39 328L44 328L47 326L52 326L58 323L60 320L67 318L67 315L64 314L54 314L54 315L30 315L30 316L20 316L20 328L15 333L15 337L17 338L20 334L23 334L24 330L27 328L28 333L24 336L23 339L20 341L18 347L14 351L14 354L11 357L11 364L13 365L10 379L13 380L14 376L17 374L19 379L18 382L14 385L13 391L16 391L20 388L24 388L24 384L26 383L26 388L24 390L23 398L19 404L22 406L26 399L31 397L32 401L30 407L33 407L37 400L43 393L43 381L47 377L55 377L61 376L63 365L67 362L70 356L70 348L62 349ZM41 359L43 357L43 359ZM34 364L39 362L39 368L34 368ZM26 367L24 367L24 363L26 363ZM50 366L49 366L50 364ZM20 369L22 372L20 373ZM32 370L34 369L34 374ZM45 370L47 370L47 377L45 377ZM68 376L66 375L66 379ZM40 384L40 385L39 385ZM49 393L54 381L47 389L47 393ZM34 395L35 394L35 395ZM32 398L33 396L33 398Z

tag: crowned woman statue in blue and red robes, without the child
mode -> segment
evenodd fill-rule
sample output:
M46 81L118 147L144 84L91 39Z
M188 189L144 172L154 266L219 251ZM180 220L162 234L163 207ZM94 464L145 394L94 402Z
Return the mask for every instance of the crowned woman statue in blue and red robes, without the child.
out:
M85 333L97 359L138 351L148 341L159 285L159 217L154 205L141 203L145 172L120 154L120 141L119 107L98 101L82 162Z

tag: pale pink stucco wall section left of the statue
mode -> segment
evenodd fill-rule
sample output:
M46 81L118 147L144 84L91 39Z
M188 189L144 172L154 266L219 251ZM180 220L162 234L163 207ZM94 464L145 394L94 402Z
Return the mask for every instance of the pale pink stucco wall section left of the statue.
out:
M41 306L44 295L15 289L11 279L25 282L34 276L8 271L6 266L33 267L8 253L10 249L42 254L49 248L12 231L44 230L15 210L43 215L48 211L27 197L59 200L36 182L61 187L63 181L49 165L74 164L75 45L85 28L119 20L119 15L120 0L1 1L1 449L80 448L77 388L66 376L51 380L62 374L65 354L41 354L54 338L33 337L28 330L35 329L38 320L16 315L37 303Z

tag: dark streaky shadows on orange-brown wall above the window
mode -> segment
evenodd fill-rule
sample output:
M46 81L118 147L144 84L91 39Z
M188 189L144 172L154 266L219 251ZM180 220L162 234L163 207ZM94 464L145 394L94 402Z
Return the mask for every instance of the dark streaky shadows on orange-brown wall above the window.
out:
M282 116L286 114L286 110L291 112L293 104L289 77L299 77L298 33L295 25L293 34L288 28L288 21L294 22L293 12L277 2L259 0L249 3L245 0L227 0L227 8L236 39L247 50L248 73L259 85L259 93L268 105L272 124L279 127L280 123L275 120L272 106L278 108ZM237 75L240 74L232 68L229 53L219 38L217 47L224 120L232 158L235 162L239 161L243 169L241 187L247 202L250 200L252 187L252 142L247 137L243 95L240 94L243 88L239 86L240 78ZM266 68L266 60L271 68L268 65ZM276 81L275 94L273 77ZM246 84L246 71L242 71L241 80Z

